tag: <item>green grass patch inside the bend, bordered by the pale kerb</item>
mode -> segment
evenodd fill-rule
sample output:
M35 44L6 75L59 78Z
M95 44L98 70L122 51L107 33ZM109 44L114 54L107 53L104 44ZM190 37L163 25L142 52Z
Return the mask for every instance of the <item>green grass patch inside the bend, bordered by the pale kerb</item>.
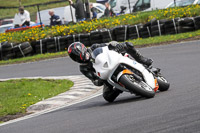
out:
M0 82L0 121L7 115L25 113L26 108L72 87L69 80L21 79Z

